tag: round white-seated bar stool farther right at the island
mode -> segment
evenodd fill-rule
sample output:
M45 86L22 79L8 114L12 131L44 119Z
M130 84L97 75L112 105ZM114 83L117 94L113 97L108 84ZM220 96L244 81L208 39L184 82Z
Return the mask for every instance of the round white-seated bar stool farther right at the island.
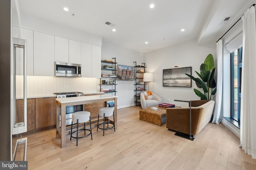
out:
M106 122L106 124L112 124L113 126L112 127L107 127L105 128L105 117L108 117L109 116L112 116L113 115L113 119L114 119L114 123L111 123L109 121ZM103 117L103 123L100 123L99 124L99 117ZM103 124L103 128L100 127L100 125ZM97 123L97 131L98 129L103 129L103 136L104 136L104 131L105 129L111 129L114 127L114 131L116 131L116 127L115 127L115 115L114 115L114 108L113 107L102 107L99 109L99 115L98 115L98 123Z

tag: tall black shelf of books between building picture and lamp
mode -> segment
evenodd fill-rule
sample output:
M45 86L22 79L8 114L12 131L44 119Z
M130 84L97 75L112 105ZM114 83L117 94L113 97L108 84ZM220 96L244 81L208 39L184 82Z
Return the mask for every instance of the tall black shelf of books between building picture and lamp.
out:
M140 105L140 93L145 91L145 82L143 82L143 74L145 73L145 63L137 65L137 62L133 62L136 67L136 77L134 80L134 102L136 106Z

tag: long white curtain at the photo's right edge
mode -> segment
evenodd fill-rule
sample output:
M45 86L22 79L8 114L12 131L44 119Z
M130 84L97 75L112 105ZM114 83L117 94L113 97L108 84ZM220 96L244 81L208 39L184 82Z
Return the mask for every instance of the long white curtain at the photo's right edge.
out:
M256 159L256 16L255 7L242 16L243 54L240 147Z

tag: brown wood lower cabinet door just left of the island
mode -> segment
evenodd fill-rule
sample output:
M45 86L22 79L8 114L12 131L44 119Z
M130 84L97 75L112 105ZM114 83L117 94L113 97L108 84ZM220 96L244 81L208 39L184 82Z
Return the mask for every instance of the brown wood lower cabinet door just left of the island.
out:
M36 129L56 125L55 99L36 98Z

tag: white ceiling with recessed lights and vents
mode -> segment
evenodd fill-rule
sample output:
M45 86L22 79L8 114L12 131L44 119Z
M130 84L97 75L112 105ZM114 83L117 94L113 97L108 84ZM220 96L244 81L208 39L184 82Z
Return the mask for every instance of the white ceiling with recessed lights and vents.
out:
M21 14L99 35L102 41L141 53L191 39L197 39L199 45L215 43L256 3L256 0L15 1ZM155 7L149 8L150 4ZM69 11L64 11L64 7ZM229 16L230 20L220 24ZM106 21L112 24L106 25Z

